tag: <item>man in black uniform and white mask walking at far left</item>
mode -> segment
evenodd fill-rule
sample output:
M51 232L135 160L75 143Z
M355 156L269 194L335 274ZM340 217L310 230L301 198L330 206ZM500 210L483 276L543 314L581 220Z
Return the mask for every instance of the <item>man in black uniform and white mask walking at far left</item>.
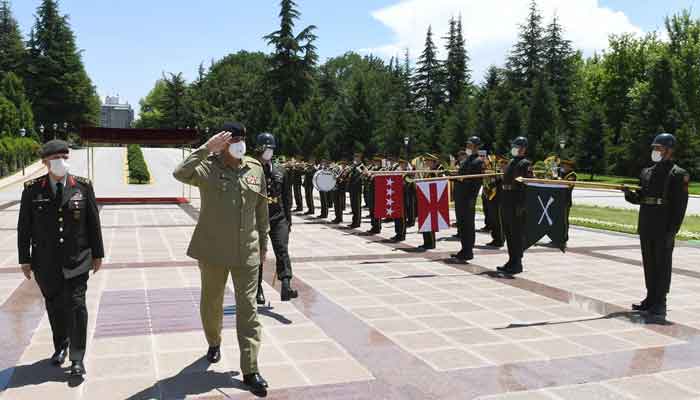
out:
M47 142L41 158L49 173L25 183L17 223L19 262L44 296L53 332L51 362L70 353L74 376L85 374L89 272L104 258L100 216L92 184L68 173L68 143ZM70 351L69 351L70 350Z

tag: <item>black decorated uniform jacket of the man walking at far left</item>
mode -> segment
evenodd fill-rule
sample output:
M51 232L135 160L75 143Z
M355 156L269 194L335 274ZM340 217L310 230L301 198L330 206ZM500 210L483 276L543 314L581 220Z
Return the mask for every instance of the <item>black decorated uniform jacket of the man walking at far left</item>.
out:
M39 276L61 269L66 279L104 258L100 215L89 180L68 175L63 198L54 198L49 176L25 183L17 223L20 264L31 264Z

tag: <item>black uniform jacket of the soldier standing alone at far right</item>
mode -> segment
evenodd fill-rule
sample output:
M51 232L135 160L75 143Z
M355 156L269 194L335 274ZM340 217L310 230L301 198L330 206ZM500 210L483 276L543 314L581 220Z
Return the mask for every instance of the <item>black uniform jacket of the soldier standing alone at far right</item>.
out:
M641 237L661 238L678 233L688 207L690 177L672 161L656 163L642 170L641 189L625 195L627 201L641 204L637 230ZM662 205L643 204L645 197L661 198Z

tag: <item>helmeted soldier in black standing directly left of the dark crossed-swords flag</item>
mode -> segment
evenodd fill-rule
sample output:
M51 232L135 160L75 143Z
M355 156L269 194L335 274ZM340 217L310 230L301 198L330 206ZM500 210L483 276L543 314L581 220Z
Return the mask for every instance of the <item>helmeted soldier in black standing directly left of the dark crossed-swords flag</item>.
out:
M511 142L511 155L501 184L503 198L501 199L501 217L503 218L503 233L508 246L508 262L498 267L500 272L515 275L523 272L523 251L525 248L525 185L516 178L532 177L532 163L525 158L527 139L520 136Z

